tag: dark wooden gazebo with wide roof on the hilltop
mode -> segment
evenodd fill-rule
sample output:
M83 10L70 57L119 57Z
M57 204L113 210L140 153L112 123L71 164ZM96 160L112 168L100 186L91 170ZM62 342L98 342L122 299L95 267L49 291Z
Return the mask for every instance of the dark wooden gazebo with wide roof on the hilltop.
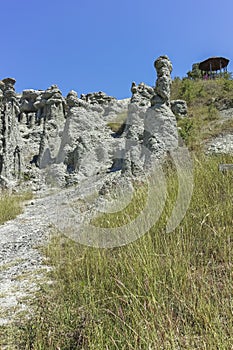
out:
M199 63L199 69L203 75L208 75L210 78L214 75L213 72L227 72L229 60L224 57L210 57L207 60Z

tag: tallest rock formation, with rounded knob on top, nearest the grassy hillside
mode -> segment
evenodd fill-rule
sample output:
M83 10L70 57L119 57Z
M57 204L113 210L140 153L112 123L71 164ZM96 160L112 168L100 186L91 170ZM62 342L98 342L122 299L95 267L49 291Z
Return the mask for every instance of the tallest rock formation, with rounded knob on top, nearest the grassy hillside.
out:
M140 174L178 147L176 118L170 109L172 64L167 56L161 56L154 65L158 76L155 89L143 88L141 97L141 88L138 91L136 85L132 86L123 161L123 172L132 175ZM142 99L147 101L144 106Z

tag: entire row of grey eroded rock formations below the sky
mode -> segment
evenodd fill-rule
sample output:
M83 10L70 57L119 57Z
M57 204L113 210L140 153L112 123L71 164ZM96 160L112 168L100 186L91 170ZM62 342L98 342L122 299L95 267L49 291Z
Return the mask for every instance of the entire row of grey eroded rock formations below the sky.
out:
M28 180L66 186L96 174L145 171L178 146L171 109L172 64L155 61L155 87L132 84L132 98L118 101L103 92L66 97L56 85L17 94L15 80L0 82L0 179L4 186ZM182 102L181 102L182 103ZM179 105L179 104L178 104ZM172 106L177 107L173 101ZM182 105L184 107L184 104ZM125 113L120 133L109 121Z

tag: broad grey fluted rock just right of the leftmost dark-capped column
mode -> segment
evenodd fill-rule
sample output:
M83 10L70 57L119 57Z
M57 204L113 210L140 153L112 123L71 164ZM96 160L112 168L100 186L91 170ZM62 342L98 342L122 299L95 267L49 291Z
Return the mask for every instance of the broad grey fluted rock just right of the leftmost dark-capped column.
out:
M27 147L24 157L45 167L52 163L53 149L65 122L65 99L56 85L46 91L24 90L20 99L20 131ZM50 141L52 140L52 143Z

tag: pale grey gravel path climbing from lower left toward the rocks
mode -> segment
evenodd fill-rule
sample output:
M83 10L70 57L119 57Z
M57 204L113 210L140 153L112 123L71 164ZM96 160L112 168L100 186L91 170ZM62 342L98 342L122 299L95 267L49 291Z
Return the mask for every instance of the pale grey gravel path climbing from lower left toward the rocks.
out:
M38 247L49 241L55 227L62 232L70 224L78 228L93 215L95 205L85 201L96 191L93 179L80 188L39 192L21 215L0 226L0 326L16 320L20 311L30 315L28 300L48 279L51 267Z

